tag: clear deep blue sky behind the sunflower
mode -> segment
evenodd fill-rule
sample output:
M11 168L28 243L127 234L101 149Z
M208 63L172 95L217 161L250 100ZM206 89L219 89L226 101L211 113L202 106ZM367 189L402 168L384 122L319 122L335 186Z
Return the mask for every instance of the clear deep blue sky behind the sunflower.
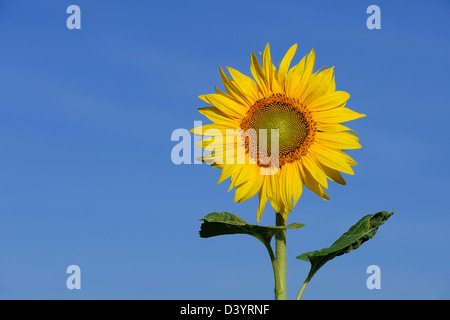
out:
M68 30L66 8L81 8ZM369 30L366 8L381 8ZM256 223L207 165L175 165L177 128L206 121L198 95L219 65L250 74L270 42L335 66L362 149L330 201L304 192L288 222L288 297L309 264L363 215L395 209L336 258L304 299L449 299L447 1L0 1L0 298L272 299L268 255L248 236L201 239L197 219ZM272 225L266 207L261 224ZM68 290L66 268L81 268ZM369 290L366 268L381 269Z

